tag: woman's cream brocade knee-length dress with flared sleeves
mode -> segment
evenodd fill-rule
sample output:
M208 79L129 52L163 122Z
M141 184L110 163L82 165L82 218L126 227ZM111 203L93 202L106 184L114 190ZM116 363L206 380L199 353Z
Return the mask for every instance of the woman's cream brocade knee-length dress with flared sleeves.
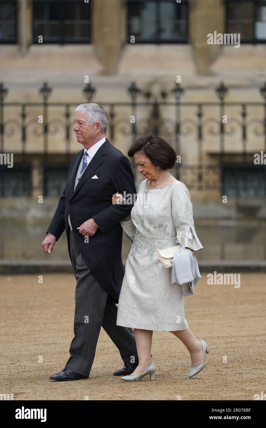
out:
M182 287L172 285L172 268L165 268L156 251L174 247L200 250L187 187L173 181L162 189L140 183L131 215L121 226L132 241L119 297L117 325L143 330L189 328L184 317Z

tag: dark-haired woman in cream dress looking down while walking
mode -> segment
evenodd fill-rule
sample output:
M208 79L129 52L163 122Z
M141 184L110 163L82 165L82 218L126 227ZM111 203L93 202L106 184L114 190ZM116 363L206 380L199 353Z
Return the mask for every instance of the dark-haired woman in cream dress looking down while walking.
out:
M170 331L184 343L190 352L192 377L204 368L208 346L191 332L184 317L182 288L172 285L172 269L165 268L156 255L156 251L174 247L177 241L190 250L203 248L195 232L190 194L185 184L169 172L176 154L162 138L141 137L132 144L128 155L146 179L140 183L131 215L121 221L132 247L120 292L117 325L134 329L138 354L134 372L121 379L140 380L148 374L154 379L153 330ZM116 193L112 203L123 199Z

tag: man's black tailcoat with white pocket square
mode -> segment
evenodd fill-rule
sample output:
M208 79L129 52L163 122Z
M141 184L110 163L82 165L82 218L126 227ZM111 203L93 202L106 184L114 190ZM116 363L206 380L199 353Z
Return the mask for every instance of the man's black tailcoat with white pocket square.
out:
M118 303L124 275L121 259L123 229L120 221L130 214L133 204L112 205L112 195L116 191L122 194L124 191L132 195L136 193L134 175L128 158L106 139L86 167L74 191L76 172L83 153L84 149L76 153L70 164L66 187L47 233L55 235L58 241L64 229L67 231L70 213L72 229L82 256L99 284L108 292L109 298ZM98 179L91 178L94 175ZM77 227L90 218L94 219L99 229L85 243L85 237ZM69 242L68 251L70 255Z

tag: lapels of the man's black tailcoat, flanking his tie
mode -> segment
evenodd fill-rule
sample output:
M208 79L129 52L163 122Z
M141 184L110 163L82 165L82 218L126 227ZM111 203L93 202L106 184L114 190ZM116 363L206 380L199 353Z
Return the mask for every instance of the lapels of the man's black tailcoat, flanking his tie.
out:
M70 184L72 185L72 181L73 181L73 187L70 187L70 189L72 189L72 192L70 192L70 195L72 195L71 198L73 198L73 196L80 189L80 187L82 186L82 184L85 183L85 181L92 175L92 173L103 162L102 156L107 155L109 146L110 146L110 143L109 143L109 141L106 138L105 142L97 150L97 152L95 153L94 157L91 159L91 162L88 164L88 166L86 167L86 169L83 172L82 176L80 177L80 180L79 180L79 182L78 182L78 184L76 186L76 189L73 190L74 189L74 184L75 184L76 173L77 173L77 167L76 167L76 164L75 164L75 169L73 169L74 173L73 173L73 176L71 177L71 182L70 182ZM83 154L82 154L82 156L83 156ZM81 157L82 156L77 156L77 158L79 158L79 163L81 161ZM79 163L78 163L78 165L79 165ZM97 180L97 178L95 178L95 180Z

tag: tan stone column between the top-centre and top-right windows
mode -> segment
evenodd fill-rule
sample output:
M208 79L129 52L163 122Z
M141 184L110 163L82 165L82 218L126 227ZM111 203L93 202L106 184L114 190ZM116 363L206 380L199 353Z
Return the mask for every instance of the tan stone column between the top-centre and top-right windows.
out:
M194 48L198 74L213 74L210 64L222 45L208 45L207 34L225 33L225 3L223 0L190 0L189 37Z

